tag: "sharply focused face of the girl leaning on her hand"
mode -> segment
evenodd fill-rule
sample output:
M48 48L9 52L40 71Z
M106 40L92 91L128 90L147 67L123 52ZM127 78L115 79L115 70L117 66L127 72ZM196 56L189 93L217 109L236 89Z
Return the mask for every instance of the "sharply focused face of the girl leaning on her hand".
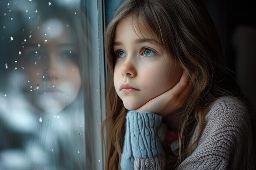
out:
M128 110L136 110L170 90L182 75L182 68L156 40L135 31L130 18L125 18L117 24L113 40L114 86Z

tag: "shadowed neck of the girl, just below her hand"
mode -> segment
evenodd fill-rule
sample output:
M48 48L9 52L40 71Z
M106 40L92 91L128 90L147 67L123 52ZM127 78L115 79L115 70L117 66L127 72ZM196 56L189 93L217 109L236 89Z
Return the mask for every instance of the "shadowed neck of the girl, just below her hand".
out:
M181 124L181 118L182 113L184 111L184 108L180 108L165 117L163 117L163 122L166 124L168 130L171 130L173 132L177 132L179 129L179 126Z

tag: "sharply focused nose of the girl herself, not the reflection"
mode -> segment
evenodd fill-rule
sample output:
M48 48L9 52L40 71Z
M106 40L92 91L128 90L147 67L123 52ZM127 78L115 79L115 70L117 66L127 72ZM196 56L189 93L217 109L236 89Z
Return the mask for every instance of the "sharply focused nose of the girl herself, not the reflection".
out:
M137 71L135 68L135 63L130 60L126 59L126 61L121 65L121 74L124 77L135 77L137 75Z

